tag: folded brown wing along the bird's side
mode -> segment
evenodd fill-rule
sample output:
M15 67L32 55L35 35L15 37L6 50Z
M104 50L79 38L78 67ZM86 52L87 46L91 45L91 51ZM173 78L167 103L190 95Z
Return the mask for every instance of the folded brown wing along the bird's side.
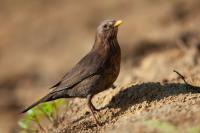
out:
M84 79L98 74L102 70L104 61L101 55L90 52L71 71L65 74L61 81L52 86L52 88L55 88L53 92L72 88Z

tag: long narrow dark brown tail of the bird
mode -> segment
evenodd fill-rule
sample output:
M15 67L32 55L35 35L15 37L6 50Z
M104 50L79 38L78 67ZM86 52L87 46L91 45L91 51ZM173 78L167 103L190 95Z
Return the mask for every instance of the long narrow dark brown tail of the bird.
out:
M32 109L33 107L37 106L40 103L52 101L52 100L55 100L55 99L58 99L58 98L61 98L61 97L56 96L55 93L49 93L48 95L41 98L39 101L33 103L31 106L24 109L21 113L27 112L29 109Z

